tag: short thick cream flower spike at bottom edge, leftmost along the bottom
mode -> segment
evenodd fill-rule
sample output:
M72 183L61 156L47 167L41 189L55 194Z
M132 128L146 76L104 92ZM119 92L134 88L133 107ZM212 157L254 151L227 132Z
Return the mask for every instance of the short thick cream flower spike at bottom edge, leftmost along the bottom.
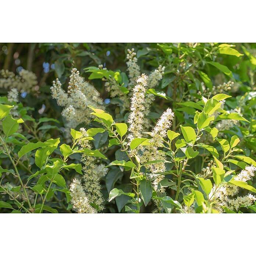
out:
M70 196L73 208L78 213L97 213L96 209L90 205L81 181L77 178L73 179L73 182L70 184Z

